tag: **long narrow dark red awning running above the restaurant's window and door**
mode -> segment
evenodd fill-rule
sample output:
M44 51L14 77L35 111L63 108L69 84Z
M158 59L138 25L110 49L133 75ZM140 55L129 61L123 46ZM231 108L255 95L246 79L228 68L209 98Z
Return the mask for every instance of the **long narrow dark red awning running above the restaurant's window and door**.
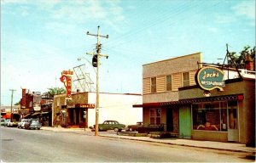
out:
M181 105L181 104L194 104L194 103L203 103L203 102L212 102L212 101L234 101L242 100L243 94L233 94L233 95L224 95L224 96L214 96L207 98L187 98L179 99L178 101L168 101L168 102L159 102L159 103L144 103L144 104L134 104L133 108L157 108L169 105Z

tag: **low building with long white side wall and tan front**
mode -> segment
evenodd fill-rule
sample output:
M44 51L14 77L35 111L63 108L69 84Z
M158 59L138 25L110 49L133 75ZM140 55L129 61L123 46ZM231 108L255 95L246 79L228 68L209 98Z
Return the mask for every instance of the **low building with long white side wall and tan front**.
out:
M90 127L96 122L96 93L73 93L67 101L66 94L55 95L53 103L53 125ZM133 108L141 104L141 94L100 93L99 123L115 120L125 125L143 121L142 108ZM86 113L86 114L84 114Z

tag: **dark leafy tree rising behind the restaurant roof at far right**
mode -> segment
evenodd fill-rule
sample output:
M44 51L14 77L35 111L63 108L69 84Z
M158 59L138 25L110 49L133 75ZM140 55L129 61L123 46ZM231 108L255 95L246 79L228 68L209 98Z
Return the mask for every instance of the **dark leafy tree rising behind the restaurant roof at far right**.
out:
M256 47L251 48L250 46L246 46L243 50L241 50L240 55L237 55L236 52L231 52L230 59L234 61L235 65L232 64L231 60L228 61L228 65L231 65L231 67L234 68L237 67L238 69L245 69L247 55L249 55L253 59L253 63L255 63L255 50Z

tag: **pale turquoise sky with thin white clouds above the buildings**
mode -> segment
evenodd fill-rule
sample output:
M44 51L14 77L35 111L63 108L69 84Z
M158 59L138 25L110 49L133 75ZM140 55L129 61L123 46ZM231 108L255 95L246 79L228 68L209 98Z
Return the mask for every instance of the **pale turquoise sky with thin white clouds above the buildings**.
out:
M90 65L97 33L100 92L142 93L143 65L190 53L222 63L229 51L255 46L254 0L1 0L1 105L21 87L45 93L64 87L62 70ZM80 61L78 58L82 58ZM185 65L184 65L185 66ZM73 90L75 91L75 90Z

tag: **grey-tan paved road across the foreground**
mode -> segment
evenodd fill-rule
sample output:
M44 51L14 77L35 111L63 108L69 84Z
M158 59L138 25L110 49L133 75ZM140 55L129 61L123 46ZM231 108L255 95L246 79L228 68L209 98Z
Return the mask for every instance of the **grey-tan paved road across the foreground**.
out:
M246 154L1 127L3 162L247 162Z

